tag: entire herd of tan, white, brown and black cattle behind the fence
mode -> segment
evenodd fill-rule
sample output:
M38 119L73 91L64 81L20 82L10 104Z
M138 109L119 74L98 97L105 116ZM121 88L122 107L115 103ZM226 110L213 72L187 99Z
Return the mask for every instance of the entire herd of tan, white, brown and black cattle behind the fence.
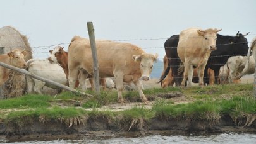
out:
M166 56L164 71L159 81L161 86L191 86L192 82L199 83L199 86L232 83L239 82L243 74L253 74L256 38L253 38L249 49L245 38L248 33L243 35L238 31L235 36L226 36L217 34L218 31L221 29L188 28L181 31L180 35L168 38L164 43ZM135 87L142 102L147 103L141 80L149 80L153 64L157 61L157 54L145 53L130 43L110 40L96 40L96 46L99 77L103 89L115 87L118 91L118 102L123 103L125 101L122 92L124 84L127 84ZM15 49L0 55L0 62L25 68L32 74L72 88L83 91L88 87L94 89L90 40L75 36L71 40L68 52L60 46L49 52L47 60L31 59L25 62L26 52ZM11 70L0 67L0 86L8 80L10 74ZM41 93L45 85L45 82L27 76L27 92Z

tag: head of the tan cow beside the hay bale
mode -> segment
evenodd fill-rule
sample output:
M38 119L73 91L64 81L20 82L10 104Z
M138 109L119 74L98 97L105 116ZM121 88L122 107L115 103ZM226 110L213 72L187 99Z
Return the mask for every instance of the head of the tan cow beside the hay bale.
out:
M24 60L25 55L27 55L25 49L11 50L11 52L9 52L7 55L11 58L11 65L24 69L28 67L26 61Z

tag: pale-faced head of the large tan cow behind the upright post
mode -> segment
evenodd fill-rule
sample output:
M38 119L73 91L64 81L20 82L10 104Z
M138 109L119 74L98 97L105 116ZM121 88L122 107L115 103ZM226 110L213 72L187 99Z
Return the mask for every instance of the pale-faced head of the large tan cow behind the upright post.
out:
M140 72L142 74L142 80L149 80L149 75L152 72L154 61L157 62L157 56L157 54L152 55L148 53L133 55L133 60L135 60L135 62L140 62Z

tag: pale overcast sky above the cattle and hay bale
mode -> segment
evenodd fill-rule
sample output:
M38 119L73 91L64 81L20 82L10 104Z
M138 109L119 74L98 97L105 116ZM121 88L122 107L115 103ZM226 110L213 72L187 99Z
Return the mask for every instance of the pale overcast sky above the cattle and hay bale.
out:
M34 58L46 58L75 35L88 38L92 21L96 39L125 40L164 57L164 42L189 27L222 28L221 35L256 36L255 0L0 0L0 27L27 35ZM46 46L46 47L43 47Z

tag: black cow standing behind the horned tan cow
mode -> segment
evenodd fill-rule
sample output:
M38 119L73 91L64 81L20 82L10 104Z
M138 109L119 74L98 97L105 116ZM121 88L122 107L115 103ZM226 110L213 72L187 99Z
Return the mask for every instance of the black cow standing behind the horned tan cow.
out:
M246 34L248 35L248 33ZM226 64L229 57L234 55L247 55L248 52L248 42L246 35L242 35L241 33L236 33L236 36L224 36L217 34L217 50L214 50L210 53L210 57L208 59L207 65L205 67L204 72L204 83L209 84L209 79L207 70L208 68L214 70L215 82L217 82L217 77L219 75L219 68ZM168 74L170 68L172 70L172 76L174 78L174 82L176 86L180 86L181 81L183 79L183 74L178 73L178 67L181 64L181 60L178 57L177 53L177 45L179 41L179 35L173 35L164 43L164 48L166 50L166 56L168 57L168 68L161 75L160 81L162 84L162 80ZM193 80L195 82L195 80Z

